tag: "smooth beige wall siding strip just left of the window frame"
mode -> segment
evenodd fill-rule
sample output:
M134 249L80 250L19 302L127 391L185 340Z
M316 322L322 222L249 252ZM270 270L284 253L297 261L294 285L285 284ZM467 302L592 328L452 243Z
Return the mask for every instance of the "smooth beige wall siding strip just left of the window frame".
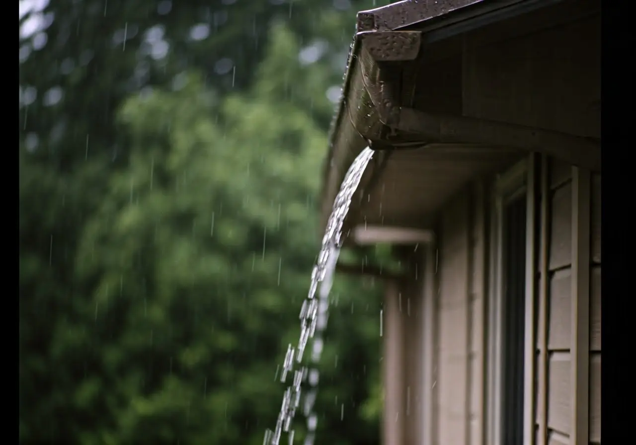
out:
M483 443L485 195L474 184L441 212L438 444Z

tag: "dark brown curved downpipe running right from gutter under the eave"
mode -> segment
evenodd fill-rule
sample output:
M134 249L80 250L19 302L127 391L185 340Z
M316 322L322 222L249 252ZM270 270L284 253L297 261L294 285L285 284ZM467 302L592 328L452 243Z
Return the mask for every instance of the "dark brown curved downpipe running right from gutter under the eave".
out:
M428 142L488 144L554 156L572 165L601 170L600 140L544 128L466 116L444 116L403 107L396 129Z

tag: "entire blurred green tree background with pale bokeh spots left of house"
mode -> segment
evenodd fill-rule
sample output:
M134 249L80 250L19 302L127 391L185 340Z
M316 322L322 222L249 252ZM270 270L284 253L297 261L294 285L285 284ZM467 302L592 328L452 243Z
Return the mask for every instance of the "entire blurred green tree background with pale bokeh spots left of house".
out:
M389 2L19 3L20 442L261 444L356 12ZM376 444L380 287L331 301L317 443Z

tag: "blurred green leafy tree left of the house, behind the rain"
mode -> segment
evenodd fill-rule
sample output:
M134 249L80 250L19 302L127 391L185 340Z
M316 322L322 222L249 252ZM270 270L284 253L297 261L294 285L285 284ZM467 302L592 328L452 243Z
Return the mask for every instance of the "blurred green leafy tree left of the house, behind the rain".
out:
M21 441L256 444L273 426L276 366L297 339L317 252L325 90L340 81L332 61L311 63L328 43L303 47L293 28L273 25L244 92L182 70L170 88L125 100L116 121L79 111L74 136L38 136L35 150L29 138L60 116L41 107L33 124L23 107ZM112 84L77 86L78 103L121 80L99 79ZM80 150L82 125L108 135L86 132ZM93 153L113 140L125 162ZM377 441L377 412L363 403L377 381L379 300L358 287L336 284L338 343L324 353L319 425L335 444Z

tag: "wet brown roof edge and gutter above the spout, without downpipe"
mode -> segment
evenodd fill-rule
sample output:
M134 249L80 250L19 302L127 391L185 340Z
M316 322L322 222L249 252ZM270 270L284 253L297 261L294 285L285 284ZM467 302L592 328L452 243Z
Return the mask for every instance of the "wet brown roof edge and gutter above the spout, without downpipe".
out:
M364 147L396 146L392 135L401 127L397 124L403 114L396 89L399 79L391 78L392 70L380 69L381 66L395 65L392 62L397 61L408 63L417 58L422 44L466 32L471 24L481 27L507 18L511 10L516 15L559 1L562 0L403 0L360 11L340 102L329 129L320 228L324 230L340 183ZM485 17L488 18L481 20ZM363 181L359 189L364 187Z

